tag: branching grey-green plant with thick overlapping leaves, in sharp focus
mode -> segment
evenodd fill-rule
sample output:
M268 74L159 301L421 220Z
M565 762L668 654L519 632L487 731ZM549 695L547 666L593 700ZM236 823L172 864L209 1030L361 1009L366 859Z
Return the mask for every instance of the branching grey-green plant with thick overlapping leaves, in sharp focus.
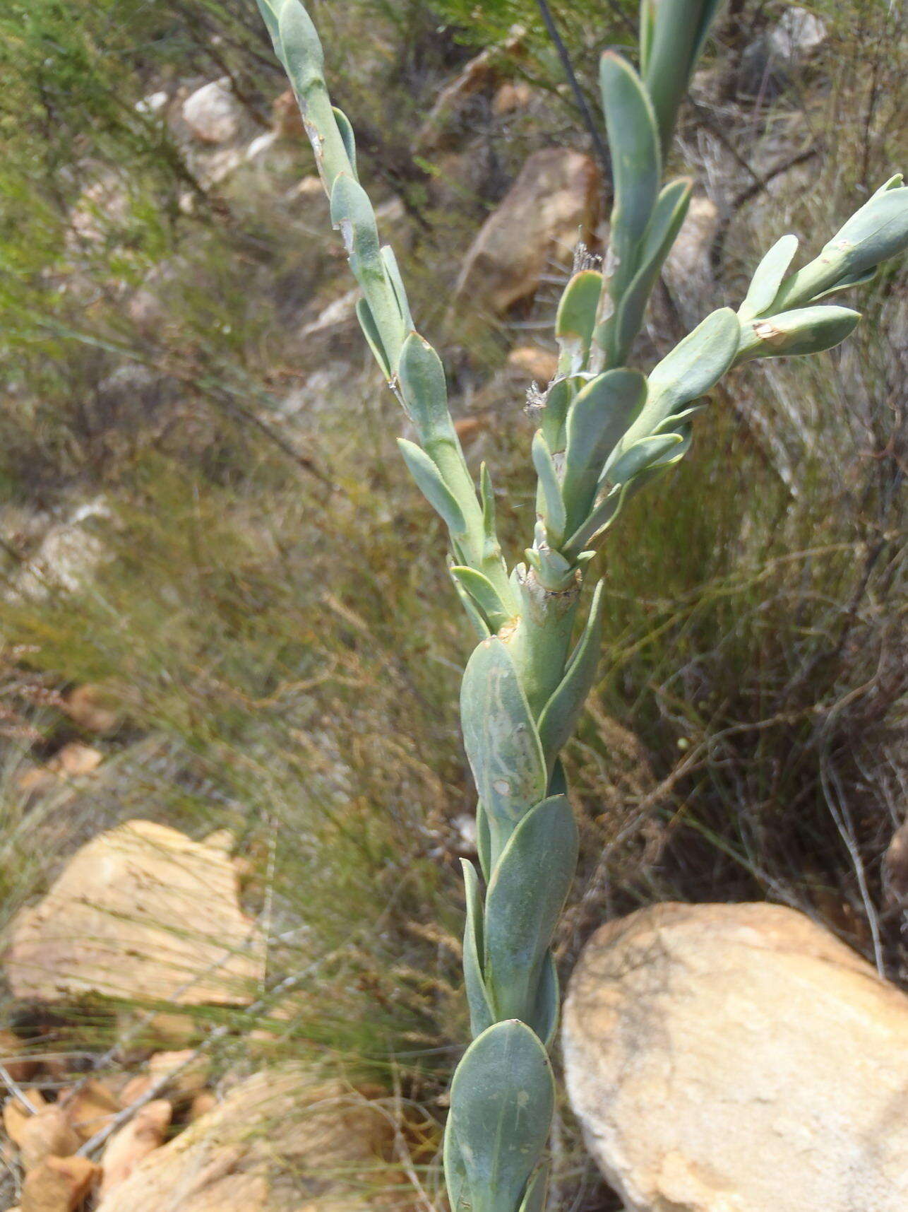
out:
M558 1018L551 941L576 862L559 750L592 684L604 611L596 588L571 646L581 588L623 502L686 453L703 396L754 358L808 354L844 339L856 311L820 301L863 281L908 244L908 189L889 181L815 261L789 273L783 236L741 308L708 315L648 375L628 367L650 291L683 223L690 182L662 184L678 107L719 0L643 0L640 72L608 52L600 84L614 156L611 247L558 308L556 378L536 401L531 461L538 520L510 572L492 480L477 486L448 411L437 353L413 330L390 248L357 181L350 125L334 109L322 50L300 0L258 0L312 141L350 267L363 333L416 441L401 440L415 482L448 527L449 568L479 645L467 662L461 721L479 794L479 874L464 867L464 972L476 1036L454 1075L444 1149L452 1207L536 1212L545 1201L552 1114L546 1050ZM483 896L483 884L485 893Z

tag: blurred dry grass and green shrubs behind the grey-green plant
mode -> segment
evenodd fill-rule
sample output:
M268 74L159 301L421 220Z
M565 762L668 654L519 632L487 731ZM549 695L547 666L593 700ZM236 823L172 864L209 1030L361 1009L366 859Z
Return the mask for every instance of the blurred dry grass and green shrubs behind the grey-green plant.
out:
M900 6L811 5L826 39L780 75L759 47L787 7L731 4L696 78L676 167L716 222L702 273L662 285L644 365L736 303L778 234L816 248L906 166ZM588 152L588 133L530 0L312 8L513 556L530 428L502 367L513 347L551 348L565 269L488 316L476 348L449 304L527 156ZM636 5L552 10L593 97ZM494 88L519 82L521 103L501 113L485 86L420 144L442 88L489 48ZM344 311L327 208L299 188L311 156L275 109L259 18L246 0L10 0L0 76L0 926L117 821L226 827L246 904L266 914L269 981L314 966L264 1051L315 1048L439 1119L465 1018L455 703L471 640L396 454L403 418ZM182 125L183 101L223 78L239 153ZM768 898L908 987L884 880L908 785L904 262L857 305L841 350L736 372L600 558L602 680L568 751L584 850L565 974L607 915ZM64 710L85 685L116 711L102 739ZM23 776L71 742L102 765L36 793ZM224 1064L251 1030L230 1027ZM103 1048L115 1025L84 1010L58 1030ZM610 1206L570 1148L559 1182Z

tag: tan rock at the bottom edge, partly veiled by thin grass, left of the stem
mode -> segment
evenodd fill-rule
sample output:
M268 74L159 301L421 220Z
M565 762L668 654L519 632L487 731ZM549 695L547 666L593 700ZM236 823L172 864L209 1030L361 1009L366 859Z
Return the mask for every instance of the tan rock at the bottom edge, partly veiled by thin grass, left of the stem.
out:
M295 1067L257 1074L155 1149L98 1212L366 1212L380 1206L390 1133L337 1084Z

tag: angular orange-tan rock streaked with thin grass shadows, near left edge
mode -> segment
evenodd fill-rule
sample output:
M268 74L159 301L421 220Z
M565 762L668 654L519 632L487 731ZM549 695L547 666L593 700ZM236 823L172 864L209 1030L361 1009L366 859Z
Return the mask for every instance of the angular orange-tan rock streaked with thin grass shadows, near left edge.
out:
M240 910L222 850L131 821L77 851L13 919L4 962L23 999L242 1005L264 976L264 941Z

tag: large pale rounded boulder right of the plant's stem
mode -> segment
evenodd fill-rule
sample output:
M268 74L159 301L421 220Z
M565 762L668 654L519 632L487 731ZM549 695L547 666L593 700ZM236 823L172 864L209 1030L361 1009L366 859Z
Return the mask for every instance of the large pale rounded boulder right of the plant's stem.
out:
M908 997L794 910L663 904L603 926L562 1037L628 1212L908 1207Z

